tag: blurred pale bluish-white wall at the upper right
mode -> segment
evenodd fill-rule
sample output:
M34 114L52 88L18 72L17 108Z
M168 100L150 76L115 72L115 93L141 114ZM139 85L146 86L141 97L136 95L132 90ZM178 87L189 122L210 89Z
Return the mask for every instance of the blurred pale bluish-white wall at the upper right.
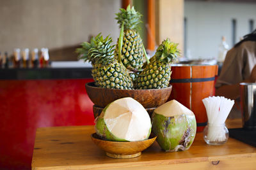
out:
M249 20L256 26L256 3L214 3L185 1L187 18L187 52L191 59L212 59L218 56L221 36L232 47L232 19L237 20L236 42L248 34ZM189 54L189 53L187 53Z

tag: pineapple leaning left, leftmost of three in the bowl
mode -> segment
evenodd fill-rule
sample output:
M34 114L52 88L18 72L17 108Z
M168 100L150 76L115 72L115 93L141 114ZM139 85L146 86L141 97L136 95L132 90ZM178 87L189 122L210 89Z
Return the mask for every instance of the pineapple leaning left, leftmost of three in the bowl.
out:
M127 69L118 62L111 45L112 39L99 34L90 43L82 43L77 53L84 61L92 62L92 76L95 85L107 89L133 89L133 83Z

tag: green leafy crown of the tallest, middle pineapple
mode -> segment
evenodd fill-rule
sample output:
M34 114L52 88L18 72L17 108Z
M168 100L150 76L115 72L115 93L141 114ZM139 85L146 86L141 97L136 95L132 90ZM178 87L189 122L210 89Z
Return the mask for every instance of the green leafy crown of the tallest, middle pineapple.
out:
M124 30L132 29L138 31L140 27L138 26L142 21L140 18L142 15L140 12L134 10L134 6L128 5L127 9L120 8L120 12L116 13L116 20L119 24L119 27L122 27L124 22Z

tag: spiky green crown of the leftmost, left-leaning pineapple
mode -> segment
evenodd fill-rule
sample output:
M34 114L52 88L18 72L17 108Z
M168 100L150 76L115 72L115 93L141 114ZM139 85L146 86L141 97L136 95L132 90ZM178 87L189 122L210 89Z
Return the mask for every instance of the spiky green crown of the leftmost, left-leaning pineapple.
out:
M80 59L84 59L84 61L89 60L92 64L96 62L103 63L114 58L115 49L113 47L115 45L111 45L112 42L111 37L107 36L104 39L100 33L93 37L90 43L82 43L82 48L77 48L76 52L79 53Z

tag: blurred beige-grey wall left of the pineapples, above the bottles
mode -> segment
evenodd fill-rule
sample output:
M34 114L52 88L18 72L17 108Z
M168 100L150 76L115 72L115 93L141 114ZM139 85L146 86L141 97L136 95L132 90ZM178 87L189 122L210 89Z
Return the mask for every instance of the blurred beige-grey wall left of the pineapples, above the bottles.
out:
M0 0L0 52L13 48L60 48L102 32L119 36L118 0Z

